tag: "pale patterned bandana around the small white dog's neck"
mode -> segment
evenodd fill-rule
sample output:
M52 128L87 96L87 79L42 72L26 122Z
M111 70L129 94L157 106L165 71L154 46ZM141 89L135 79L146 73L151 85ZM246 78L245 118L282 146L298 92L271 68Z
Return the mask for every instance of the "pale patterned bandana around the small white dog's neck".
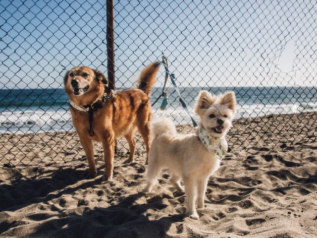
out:
M223 159L228 151L228 144L224 136L220 138L213 137L208 134L207 130L202 125L199 125L198 137L207 150L214 152L216 157L220 160Z

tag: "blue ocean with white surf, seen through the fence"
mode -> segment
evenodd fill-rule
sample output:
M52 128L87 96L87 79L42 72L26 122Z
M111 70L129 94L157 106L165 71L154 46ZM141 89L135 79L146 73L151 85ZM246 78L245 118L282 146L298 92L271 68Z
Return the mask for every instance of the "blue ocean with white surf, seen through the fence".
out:
M161 94L154 88L151 102ZM180 88L181 95L191 111L200 87ZM239 118L254 118L271 114L293 114L317 111L317 87L229 87L204 88L211 93L233 90L237 98ZM153 106L155 117L169 117L175 124L191 123L174 92L166 89L168 104L161 111L162 98ZM33 133L74 130L67 104L68 96L63 89L13 89L0 90L0 133Z

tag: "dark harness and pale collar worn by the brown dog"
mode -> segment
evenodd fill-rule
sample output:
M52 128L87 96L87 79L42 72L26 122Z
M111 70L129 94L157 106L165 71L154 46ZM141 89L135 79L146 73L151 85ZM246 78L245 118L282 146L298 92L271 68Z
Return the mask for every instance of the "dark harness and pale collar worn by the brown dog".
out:
M93 129L93 119L94 119L94 111L97 111L103 102L106 102L107 99L113 99L114 93L112 92L109 96L104 93L104 95L95 103L91 105L86 105L83 107L77 106L73 101L69 100L68 103L78 111L87 112L89 114L89 135L94 136L94 129ZM115 103L114 103L115 105ZM116 106L116 105L115 105Z

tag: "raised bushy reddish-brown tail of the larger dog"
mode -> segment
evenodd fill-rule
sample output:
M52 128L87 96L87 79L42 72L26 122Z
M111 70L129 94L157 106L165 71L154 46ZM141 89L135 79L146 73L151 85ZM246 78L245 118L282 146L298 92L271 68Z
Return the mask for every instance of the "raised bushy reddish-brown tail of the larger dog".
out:
M142 70L140 77L138 78L137 88L141 89L147 95L150 95L150 92L153 88L153 85L155 83L155 76L157 75L159 71L159 65L160 65L160 62L156 61L146 66Z

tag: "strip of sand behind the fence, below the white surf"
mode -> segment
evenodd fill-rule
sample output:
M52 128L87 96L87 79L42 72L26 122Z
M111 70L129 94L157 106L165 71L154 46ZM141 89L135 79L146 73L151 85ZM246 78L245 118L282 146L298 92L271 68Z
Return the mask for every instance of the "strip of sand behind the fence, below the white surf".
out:
M177 125L180 133L193 132L192 124ZM264 117L234 119L226 139L230 148L275 146L301 142L315 142L317 138L317 112L302 114L268 115ZM136 133L137 153L144 154L143 139ZM82 158L85 153L76 131L40 132L26 134L0 134L0 167L64 163ZM94 143L95 154L101 143ZM127 153L124 138L118 140L118 150Z

